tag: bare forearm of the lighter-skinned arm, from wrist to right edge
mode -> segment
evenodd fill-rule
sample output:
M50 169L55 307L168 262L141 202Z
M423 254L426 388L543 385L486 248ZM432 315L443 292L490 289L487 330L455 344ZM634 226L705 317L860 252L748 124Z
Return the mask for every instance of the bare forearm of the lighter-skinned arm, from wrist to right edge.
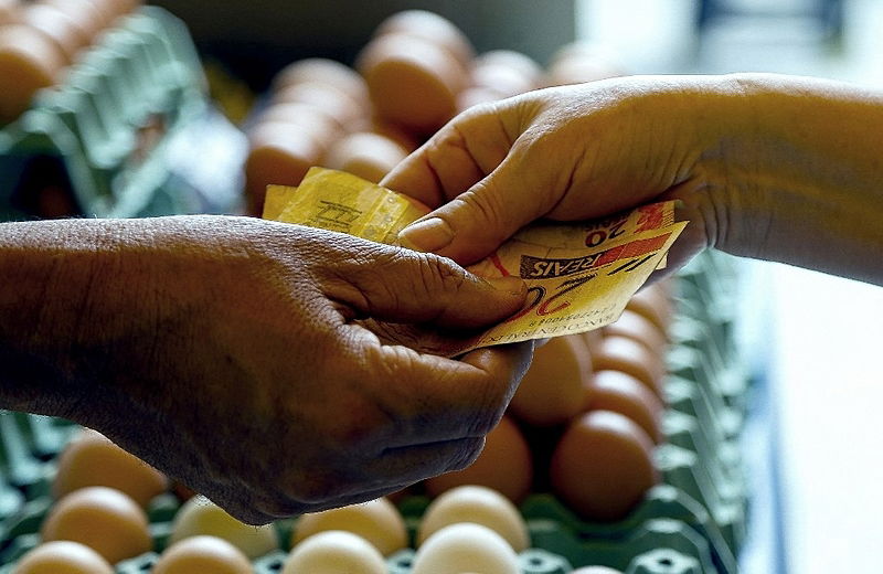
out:
M728 76L732 132L702 159L728 203L716 246L883 285L883 94Z

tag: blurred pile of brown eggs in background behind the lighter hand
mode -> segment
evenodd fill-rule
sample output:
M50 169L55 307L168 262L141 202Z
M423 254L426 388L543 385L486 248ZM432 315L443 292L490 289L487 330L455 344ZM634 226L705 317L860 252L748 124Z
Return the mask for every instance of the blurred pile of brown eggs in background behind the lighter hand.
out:
M583 44L563 47L547 71L511 50L476 56L468 38L440 15L398 12L377 26L354 70L308 59L277 74L248 128L248 211L260 213L266 185L297 185L317 164L379 182L477 104L619 74L613 57Z

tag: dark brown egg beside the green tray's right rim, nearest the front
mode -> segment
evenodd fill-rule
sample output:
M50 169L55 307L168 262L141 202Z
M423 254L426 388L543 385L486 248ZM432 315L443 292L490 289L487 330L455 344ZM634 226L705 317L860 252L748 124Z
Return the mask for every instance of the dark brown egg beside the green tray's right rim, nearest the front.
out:
M554 492L581 517L625 518L659 481L653 442L637 423L608 411L574 419L552 455Z

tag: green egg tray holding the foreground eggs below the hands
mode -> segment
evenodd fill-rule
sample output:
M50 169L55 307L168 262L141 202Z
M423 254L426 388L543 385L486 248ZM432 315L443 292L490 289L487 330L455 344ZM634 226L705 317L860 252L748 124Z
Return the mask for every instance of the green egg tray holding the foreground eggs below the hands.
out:
M737 572L747 529L746 477L738 437L748 413L748 378L733 341L735 274L726 256L706 253L682 270L670 327L668 407L663 439L655 448L662 480L626 518L589 522L551 493L531 493L520 504L531 548L521 552L523 574L566 574L606 565L626 574ZM53 504L55 457L76 425L23 413L0 414L0 574L40 543ZM430 499L405 496L398 509L412 545ZM147 513L156 552L120 562L118 574L149 572L168 542L181 508L171 492L153 498ZM279 548L290 545L294 520L274 523ZM415 551L386 559L390 574L411 572ZM253 562L257 574L279 572L287 552Z

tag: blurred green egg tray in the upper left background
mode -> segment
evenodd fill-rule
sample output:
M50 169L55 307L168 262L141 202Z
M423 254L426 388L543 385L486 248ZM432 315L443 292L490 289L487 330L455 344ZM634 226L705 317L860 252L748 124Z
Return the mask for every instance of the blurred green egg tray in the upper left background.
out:
M184 25L143 7L0 126L0 221L45 216L46 188L68 196L61 215L230 212L245 148L209 104Z

